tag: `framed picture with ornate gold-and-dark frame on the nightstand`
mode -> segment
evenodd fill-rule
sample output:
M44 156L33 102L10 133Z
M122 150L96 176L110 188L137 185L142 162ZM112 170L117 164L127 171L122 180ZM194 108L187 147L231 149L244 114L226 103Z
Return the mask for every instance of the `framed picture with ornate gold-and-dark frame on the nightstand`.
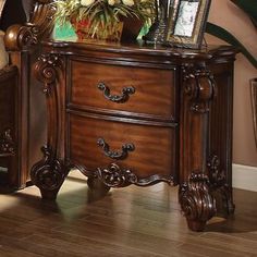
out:
M176 47L200 48L210 0L173 0L170 3L167 41Z

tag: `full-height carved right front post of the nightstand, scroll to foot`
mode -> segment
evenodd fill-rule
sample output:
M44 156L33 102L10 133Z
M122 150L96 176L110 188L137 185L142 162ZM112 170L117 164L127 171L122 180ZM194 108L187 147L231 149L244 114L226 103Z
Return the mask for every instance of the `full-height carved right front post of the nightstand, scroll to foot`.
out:
M205 64L184 65L182 76L179 199L188 227L203 231L216 213L207 175L209 105L216 95L216 85Z

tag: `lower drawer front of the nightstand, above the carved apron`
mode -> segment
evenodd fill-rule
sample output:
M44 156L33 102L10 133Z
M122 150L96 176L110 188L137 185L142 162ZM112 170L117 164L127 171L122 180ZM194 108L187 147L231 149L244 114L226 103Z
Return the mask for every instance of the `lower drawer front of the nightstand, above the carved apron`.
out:
M87 171L108 168L117 163L138 178L154 174L170 176L175 171L175 132L172 127L130 124L70 114L68 157L74 164L85 166ZM122 145L133 144L125 158L113 159L105 154L102 138L111 152L122 151Z

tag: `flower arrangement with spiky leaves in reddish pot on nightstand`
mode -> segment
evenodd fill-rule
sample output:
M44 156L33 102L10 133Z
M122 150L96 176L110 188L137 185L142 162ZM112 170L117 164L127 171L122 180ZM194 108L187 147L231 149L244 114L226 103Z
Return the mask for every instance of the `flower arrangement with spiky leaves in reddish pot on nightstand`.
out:
M78 38L105 40L120 40L127 19L140 26L150 22L155 9L154 0L57 0L53 4L54 20L60 25L71 22Z

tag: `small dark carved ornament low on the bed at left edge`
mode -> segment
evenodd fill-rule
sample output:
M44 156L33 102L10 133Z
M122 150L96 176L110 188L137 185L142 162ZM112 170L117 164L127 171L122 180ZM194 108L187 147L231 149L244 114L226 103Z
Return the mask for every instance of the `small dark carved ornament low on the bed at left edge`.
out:
M0 134L0 157L15 155L15 144L12 138L11 130L8 128Z

